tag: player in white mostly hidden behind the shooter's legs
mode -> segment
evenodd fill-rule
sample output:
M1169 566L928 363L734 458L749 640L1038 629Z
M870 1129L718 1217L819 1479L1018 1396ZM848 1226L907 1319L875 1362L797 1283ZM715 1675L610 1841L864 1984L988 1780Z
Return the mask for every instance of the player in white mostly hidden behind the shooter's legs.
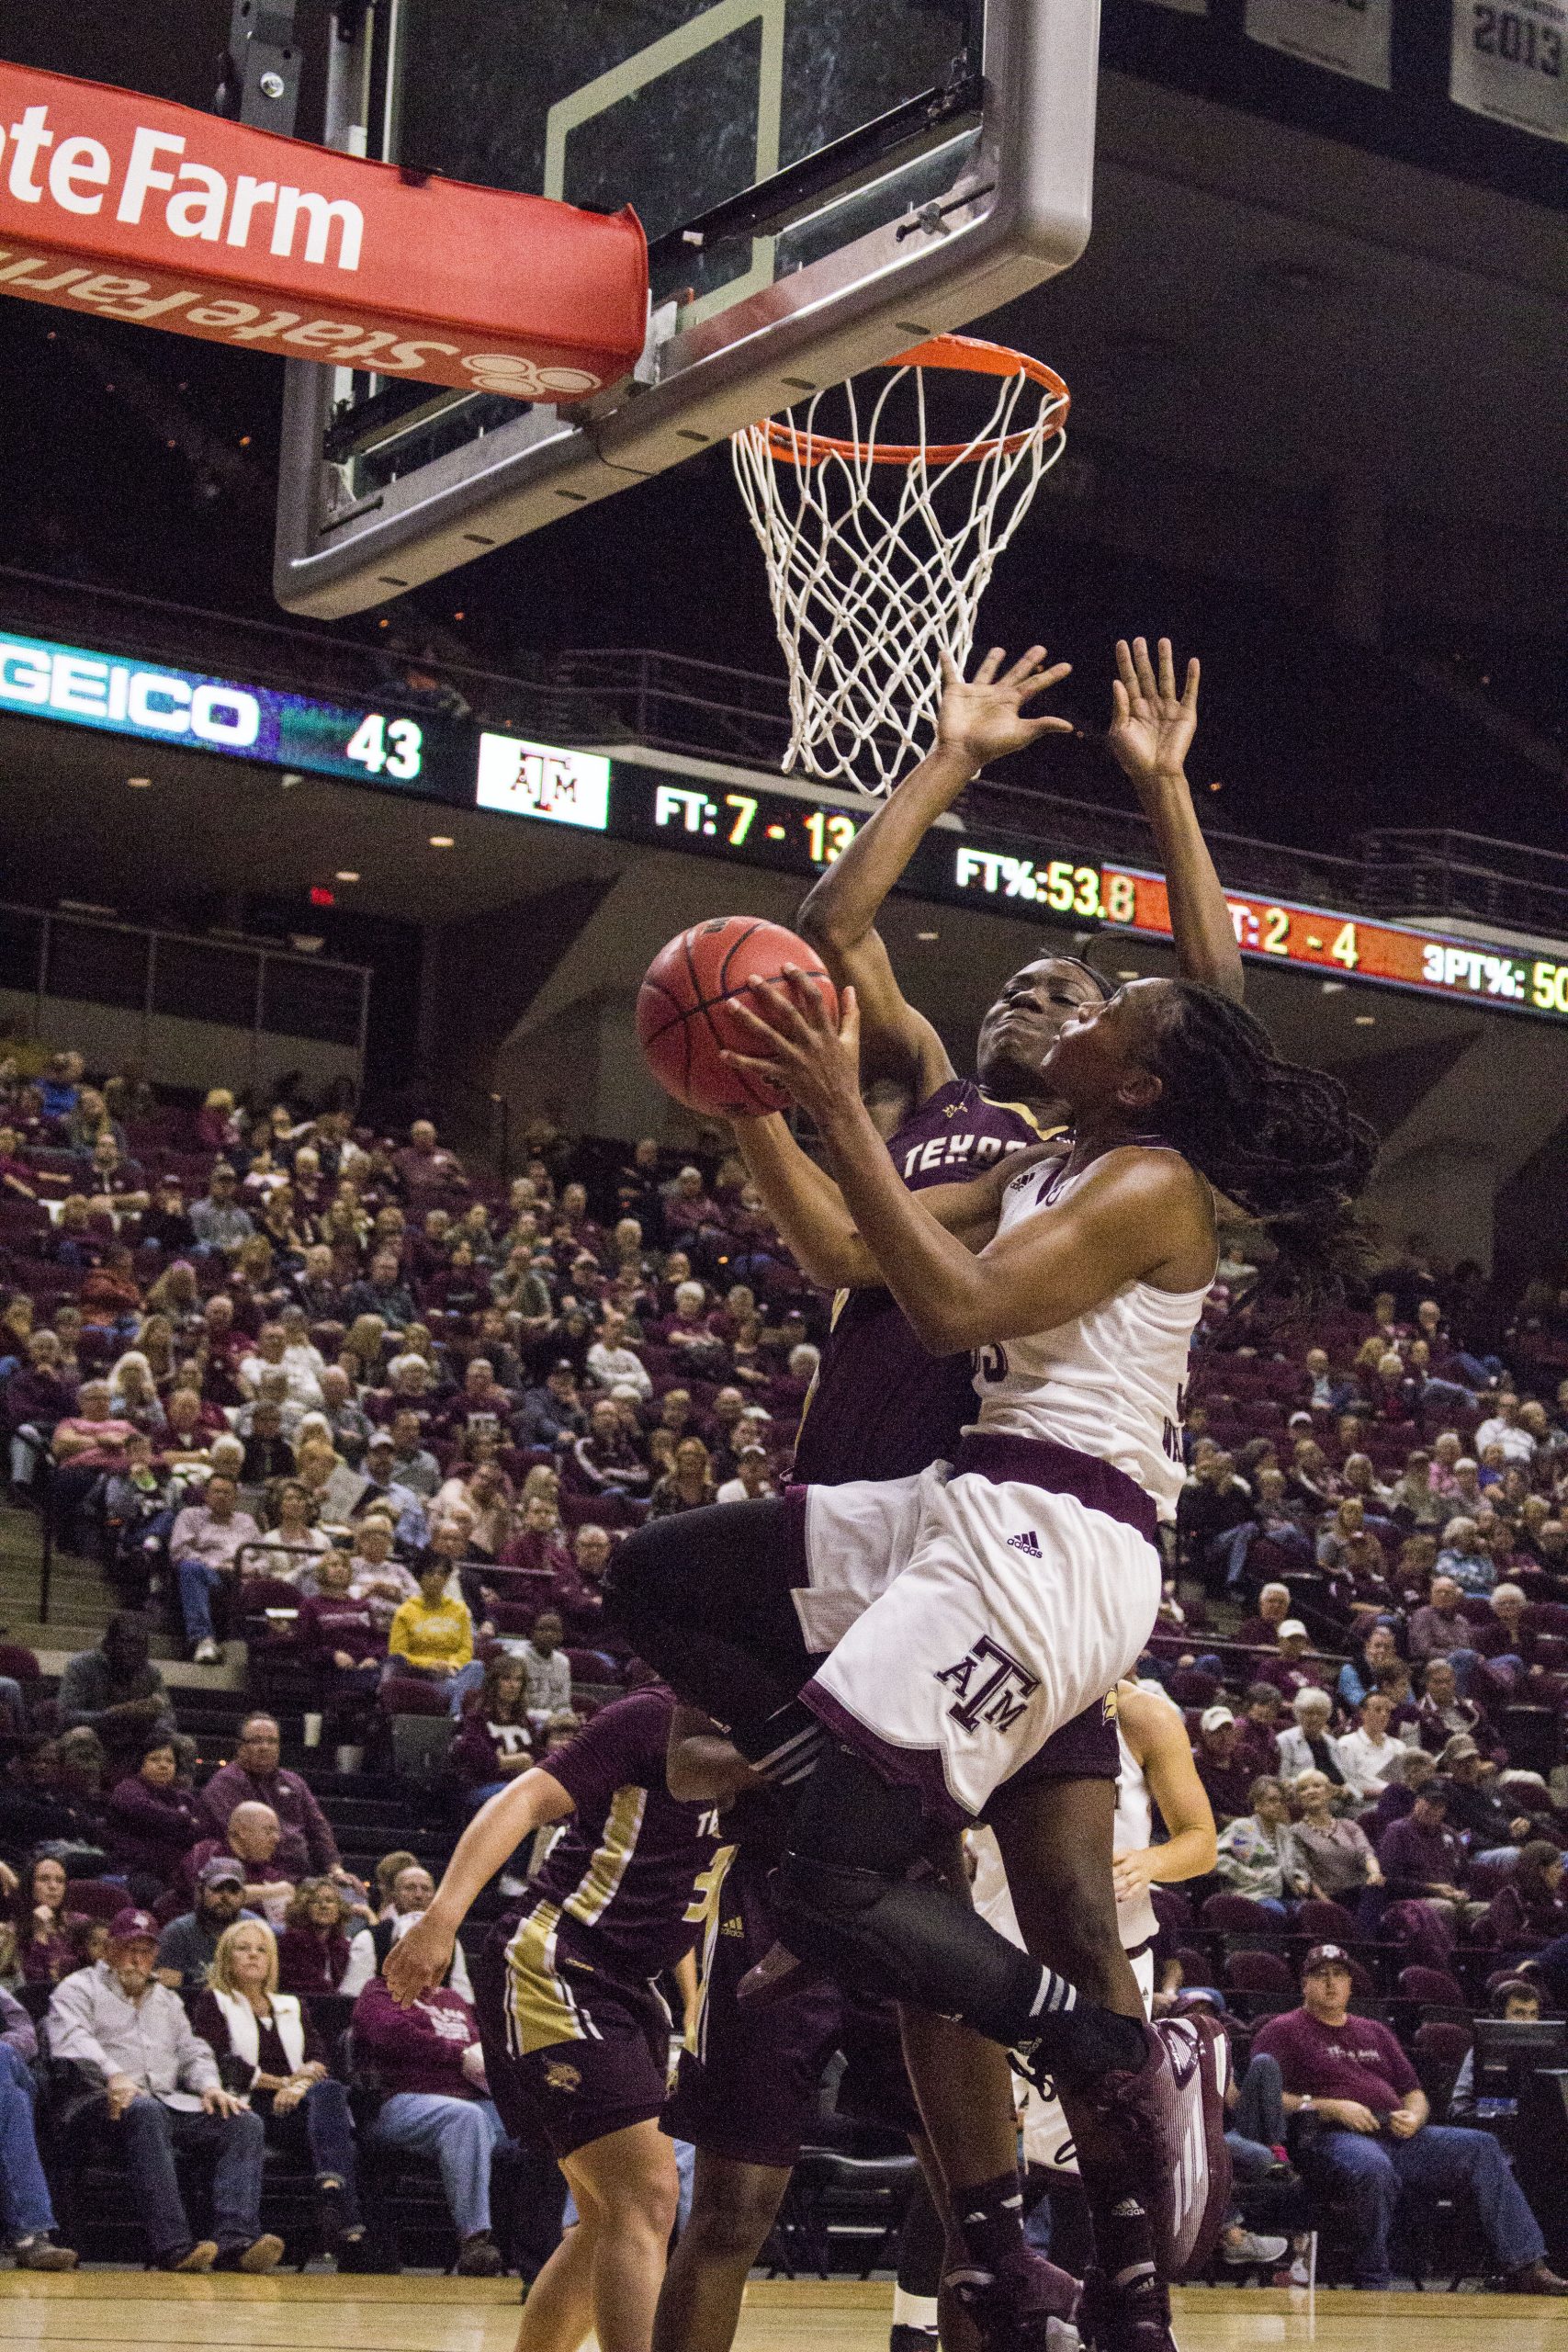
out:
M1121 1755L1114 1825L1117 1926L1121 1950L1131 1959L1143 1992L1145 2013L1150 2013L1154 2006L1154 1938L1159 1936L1150 1886L1178 1886L1182 1879L1206 1877L1215 1860L1215 1828L1208 1792L1192 1759L1187 1722L1164 1691L1143 1682L1117 1684L1117 1750ZM1159 1846L1154 1844L1154 1806L1166 1825L1166 1839ZM1023 1943L997 1839L990 1830L971 1830L969 1851L976 1863L976 1910L1001 1936ZM1039 2164L1048 2173L1077 2178L1072 2133L1060 2105L1044 2098L1023 2077L1013 2079L1025 2096L1025 2161ZM1286 2253L1286 2239L1255 2237L1241 2227L1232 2211L1220 2237L1220 2253L1234 2265L1279 2263Z

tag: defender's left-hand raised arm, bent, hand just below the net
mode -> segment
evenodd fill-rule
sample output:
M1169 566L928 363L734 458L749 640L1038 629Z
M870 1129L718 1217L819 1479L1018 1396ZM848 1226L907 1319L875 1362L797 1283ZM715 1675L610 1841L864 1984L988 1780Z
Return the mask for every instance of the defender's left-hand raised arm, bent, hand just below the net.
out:
M947 1049L924 1014L903 995L877 931L882 901L938 816L987 760L1023 750L1041 734L1072 734L1070 720L1025 717L1023 706L1067 677L1070 663L1046 668L1044 644L1032 644L1011 670L992 647L964 682L943 654L943 706L936 746L856 833L849 849L802 901L797 927L827 964L835 985L860 1000L860 1080L893 1080L912 1103L924 1103L952 1077Z

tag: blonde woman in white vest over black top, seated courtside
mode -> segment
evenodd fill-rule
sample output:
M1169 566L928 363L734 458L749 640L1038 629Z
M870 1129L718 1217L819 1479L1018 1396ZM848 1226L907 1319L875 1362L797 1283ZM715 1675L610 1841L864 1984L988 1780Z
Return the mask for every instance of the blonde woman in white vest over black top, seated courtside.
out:
M219 1936L190 2023L212 2044L223 2086L263 2119L268 2145L306 2157L327 2251L355 2267L364 2220L348 2091L299 1994L277 1990L277 1938L266 1919L237 1919Z

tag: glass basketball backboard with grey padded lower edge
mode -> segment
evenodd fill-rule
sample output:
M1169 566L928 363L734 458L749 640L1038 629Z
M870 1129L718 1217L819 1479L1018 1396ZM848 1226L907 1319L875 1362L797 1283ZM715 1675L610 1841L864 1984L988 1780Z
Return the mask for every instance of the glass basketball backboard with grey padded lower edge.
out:
M395 64L409 5L339 9L329 146L400 160L388 56ZM818 0L691 5L661 40L614 59L548 108L538 193L583 202L569 186L574 134L592 134L595 125L602 132L614 108L646 106L665 75L691 68L708 49L741 38L757 49L752 186L663 233L651 223L654 252L679 263L689 249L693 273L708 240L733 247L750 238L750 268L689 299L656 299L635 379L592 412L470 402L465 414L480 423L475 437L463 437L463 395L435 395L414 421L395 400L386 414L381 405L367 412L371 386L362 374L289 365L280 604L324 619L381 604L726 440L820 383L997 310L1079 256L1091 221L1095 0L983 0L980 73L954 71L943 89L905 101L853 139L783 160L792 7L816 16ZM943 183L945 158L952 179ZM867 191L877 198L905 181L907 202L867 205ZM621 193L637 202L635 186ZM860 233L865 212L872 226ZM806 256L795 261L788 238L802 223ZM414 449L447 407L456 445L400 473L400 437ZM369 494L353 463L327 456L329 445L353 445L360 456L381 449Z

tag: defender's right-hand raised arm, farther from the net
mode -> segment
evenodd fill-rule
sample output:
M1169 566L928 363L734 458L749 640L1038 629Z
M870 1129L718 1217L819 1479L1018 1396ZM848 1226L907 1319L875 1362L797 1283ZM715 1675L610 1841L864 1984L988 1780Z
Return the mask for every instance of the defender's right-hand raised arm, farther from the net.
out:
M1171 898L1175 969L1187 981L1206 981L1227 997L1241 997L1237 931L1187 783L1187 750L1199 717L1199 666L1187 663L1178 694L1171 640L1159 640L1154 663L1145 637L1133 637L1131 644L1121 637L1112 699L1114 713L1105 741L1154 830Z

